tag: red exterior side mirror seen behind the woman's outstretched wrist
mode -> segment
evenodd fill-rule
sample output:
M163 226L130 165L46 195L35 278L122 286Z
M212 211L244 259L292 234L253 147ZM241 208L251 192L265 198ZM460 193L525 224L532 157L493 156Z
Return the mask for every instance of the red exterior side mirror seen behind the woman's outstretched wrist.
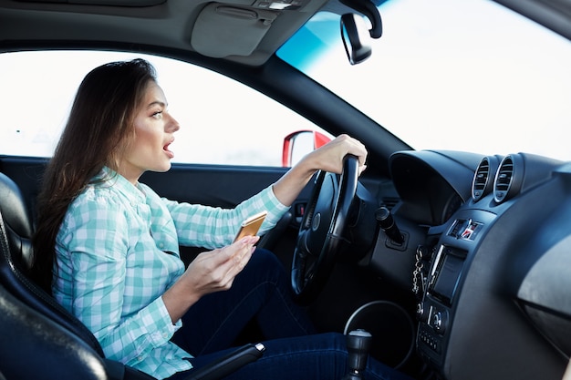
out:
M315 130L303 129L290 133L284 138L282 149L282 166L290 168L294 166L307 153L324 146L331 141L323 133Z

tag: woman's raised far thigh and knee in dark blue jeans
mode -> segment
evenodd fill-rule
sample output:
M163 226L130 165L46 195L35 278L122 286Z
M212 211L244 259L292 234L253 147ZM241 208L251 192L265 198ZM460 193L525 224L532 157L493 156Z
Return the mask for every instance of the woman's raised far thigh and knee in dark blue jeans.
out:
M256 249L231 289L203 296L182 318L172 342L194 356L223 350L255 320L266 340L315 333L293 301L289 276L273 252Z

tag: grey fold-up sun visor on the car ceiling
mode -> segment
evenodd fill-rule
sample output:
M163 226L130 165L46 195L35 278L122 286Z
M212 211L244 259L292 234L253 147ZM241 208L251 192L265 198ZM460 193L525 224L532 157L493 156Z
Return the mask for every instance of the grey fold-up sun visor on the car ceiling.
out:
M203 56L249 56L278 12L235 5L206 5L192 29L192 47Z

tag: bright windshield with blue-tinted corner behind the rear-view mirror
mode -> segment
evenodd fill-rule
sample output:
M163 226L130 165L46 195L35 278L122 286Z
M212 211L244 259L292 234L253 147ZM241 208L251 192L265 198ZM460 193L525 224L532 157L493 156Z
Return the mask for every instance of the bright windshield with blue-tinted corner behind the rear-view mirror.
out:
M571 43L486 0L390 0L383 36L351 66L321 12L278 56L413 149L571 160ZM306 56L308 49L312 55Z

